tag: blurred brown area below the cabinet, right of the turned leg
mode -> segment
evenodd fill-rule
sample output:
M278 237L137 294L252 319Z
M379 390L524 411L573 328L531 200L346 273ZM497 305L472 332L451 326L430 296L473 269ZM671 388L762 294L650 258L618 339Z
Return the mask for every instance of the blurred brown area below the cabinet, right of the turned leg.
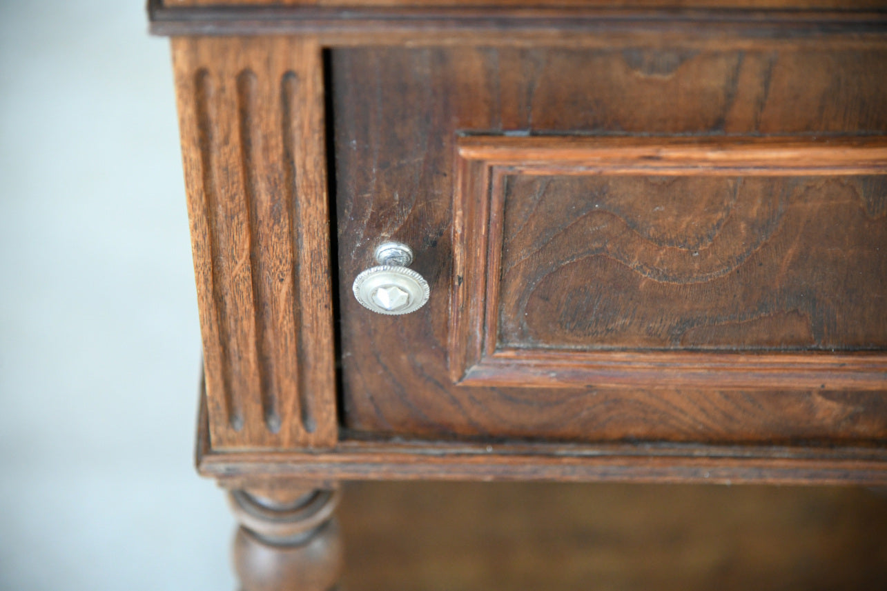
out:
M349 591L887 587L887 497L854 488L353 483Z

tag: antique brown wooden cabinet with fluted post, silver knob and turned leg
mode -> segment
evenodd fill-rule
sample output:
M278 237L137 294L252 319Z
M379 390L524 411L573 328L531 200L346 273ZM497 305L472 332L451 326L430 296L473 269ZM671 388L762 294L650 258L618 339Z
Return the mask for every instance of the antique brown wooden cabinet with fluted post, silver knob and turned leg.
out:
M883 3L149 9L247 590L341 479L887 484Z

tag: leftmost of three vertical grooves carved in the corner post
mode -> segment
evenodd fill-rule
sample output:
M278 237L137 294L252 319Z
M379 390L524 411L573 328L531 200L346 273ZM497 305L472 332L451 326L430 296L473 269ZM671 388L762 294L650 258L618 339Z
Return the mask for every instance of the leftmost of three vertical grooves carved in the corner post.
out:
M222 385L223 399L228 423L234 431L243 428L243 408L241 400L232 393L231 347L229 326L230 317L226 314L224 294L221 285L227 283L226 269L222 261L222 249L217 231L220 221L214 219L219 213L218 190L216 187L216 138L213 125L216 117L213 113L212 98L214 95L212 78L206 68L200 68L194 74L194 99L197 116L197 128L200 135L200 164L203 172L203 206L204 220L207 222L210 249L210 283L212 284L213 300L216 304L216 322L218 323L218 346L222 354ZM224 220L221 221L224 223Z

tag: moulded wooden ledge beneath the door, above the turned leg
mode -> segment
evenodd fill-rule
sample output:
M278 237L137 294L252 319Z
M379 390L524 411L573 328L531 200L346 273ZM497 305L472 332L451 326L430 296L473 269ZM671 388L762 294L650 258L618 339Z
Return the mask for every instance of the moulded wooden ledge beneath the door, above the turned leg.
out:
M719 450L690 448L685 455L672 457L651 453L649 447L621 455L598 455L598 449L588 455L564 455L546 447L538 448L536 454L512 454L508 445L498 446L499 453L492 454L483 453L487 446L477 446L467 454L443 445L418 453L396 446L355 447L348 444L317 455L210 455L200 462L199 470L224 486L262 478L887 486L883 457L782 457L784 449L725 457L718 455Z

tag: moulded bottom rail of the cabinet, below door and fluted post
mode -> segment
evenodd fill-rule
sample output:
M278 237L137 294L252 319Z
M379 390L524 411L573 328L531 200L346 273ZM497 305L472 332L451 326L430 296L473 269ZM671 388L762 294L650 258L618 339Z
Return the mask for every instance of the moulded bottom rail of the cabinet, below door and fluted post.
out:
M287 491L338 480L550 480L732 484L887 485L887 447L830 445L553 444L384 441L345 433L313 454L227 452L209 439L200 396L196 463L227 488Z

